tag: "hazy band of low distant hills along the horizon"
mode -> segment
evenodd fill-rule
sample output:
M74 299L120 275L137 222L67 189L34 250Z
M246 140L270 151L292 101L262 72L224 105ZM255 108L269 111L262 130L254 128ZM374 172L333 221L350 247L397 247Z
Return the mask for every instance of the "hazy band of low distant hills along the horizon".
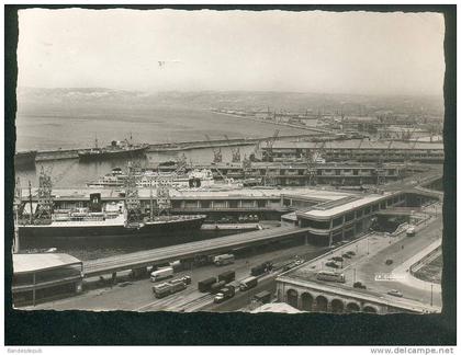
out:
M105 88L18 88L20 113L179 108L241 108L273 111L330 111L345 114L373 114L379 111L441 115L443 101L434 96L367 96L296 92L168 91L149 93Z

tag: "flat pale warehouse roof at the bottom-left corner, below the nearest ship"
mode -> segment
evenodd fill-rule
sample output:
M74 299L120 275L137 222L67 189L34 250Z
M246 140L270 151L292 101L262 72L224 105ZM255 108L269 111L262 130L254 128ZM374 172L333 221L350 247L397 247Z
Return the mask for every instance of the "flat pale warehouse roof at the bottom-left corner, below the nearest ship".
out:
M76 263L81 263L81 261L61 253L13 254L13 273L31 273Z

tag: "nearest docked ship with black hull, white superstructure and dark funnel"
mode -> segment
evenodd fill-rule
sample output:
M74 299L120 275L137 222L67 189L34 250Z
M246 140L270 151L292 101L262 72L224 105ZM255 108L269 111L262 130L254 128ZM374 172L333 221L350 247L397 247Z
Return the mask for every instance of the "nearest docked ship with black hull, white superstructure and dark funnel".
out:
M20 238L40 237L131 237L149 238L177 236L199 230L205 215L168 215L169 193L166 185L157 188L157 201L142 209L137 197L136 179L132 172L125 183L125 199L102 202L100 193L77 206L54 208L50 178L43 170L40 175L37 203L29 199L20 203L18 218ZM21 196L20 196L21 199ZM164 215L160 215L164 213Z

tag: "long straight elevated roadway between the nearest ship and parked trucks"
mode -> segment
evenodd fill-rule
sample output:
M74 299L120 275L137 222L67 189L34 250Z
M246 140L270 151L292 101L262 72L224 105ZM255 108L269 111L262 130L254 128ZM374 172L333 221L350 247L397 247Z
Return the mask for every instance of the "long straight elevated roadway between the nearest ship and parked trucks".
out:
M83 262L85 277L99 276L121 271L142 268L179 259L206 255L212 252L227 252L233 249L263 244L285 238L305 236L307 229L294 226L263 229L216 239L190 242L184 244L158 248Z

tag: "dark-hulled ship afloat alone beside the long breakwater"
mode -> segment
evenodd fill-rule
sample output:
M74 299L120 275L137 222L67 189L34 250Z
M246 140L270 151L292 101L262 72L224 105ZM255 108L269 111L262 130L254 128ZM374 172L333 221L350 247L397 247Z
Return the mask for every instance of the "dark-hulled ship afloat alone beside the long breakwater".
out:
M144 154L149 148L148 144L133 144L132 137L124 140L112 140L110 146L98 147L98 139L94 141L94 147L78 151L80 160L98 160L114 157L136 157Z

